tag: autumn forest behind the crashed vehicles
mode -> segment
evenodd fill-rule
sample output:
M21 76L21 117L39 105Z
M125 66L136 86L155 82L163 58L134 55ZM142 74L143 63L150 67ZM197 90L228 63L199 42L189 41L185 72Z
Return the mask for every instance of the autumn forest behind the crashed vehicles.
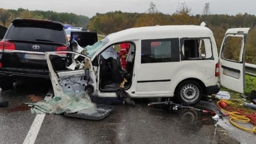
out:
M223 37L228 28L251 28L246 44L245 58L247 63L256 64L256 16L249 13L237 13L237 15L211 14L210 3L205 3L202 13L193 15L192 8L186 3L180 3L174 13L162 13L157 9L156 4L150 3L148 10L144 13L128 13L122 11L96 13L89 18L85 15L76 15L74 13L58 13L52 11L35 10L29 11L23 8L18 10L4 10L0 8L0 25L8 26L15 17L47 19L63 22L63 24L72 24L88 28L90 31L96 31L101 35L115 33L122 29L156 26L159 25L177 25L193 24L200 25L206 23L206 27L211 29L216 39L218 50L220 50ZM235 45L237 42L234 41ZM236 48L236 49L235 49ZM228 51L230 59L236 60L239 57L240 49L234 47Z

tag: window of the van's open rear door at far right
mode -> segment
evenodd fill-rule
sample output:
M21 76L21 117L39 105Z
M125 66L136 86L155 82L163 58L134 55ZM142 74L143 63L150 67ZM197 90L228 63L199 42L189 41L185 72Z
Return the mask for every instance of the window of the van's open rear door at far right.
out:
M221 58L231 61L242 61L241 50L243 49L243 37L241 36L227 36L223 46Z

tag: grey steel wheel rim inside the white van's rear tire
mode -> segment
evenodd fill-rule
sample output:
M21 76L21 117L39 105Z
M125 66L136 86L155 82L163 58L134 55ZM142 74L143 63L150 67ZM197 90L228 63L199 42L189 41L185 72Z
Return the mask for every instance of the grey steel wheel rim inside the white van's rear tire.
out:
M183 100L186 102L193 102L199 97L199 90L194 84L187 84L180 92Z

